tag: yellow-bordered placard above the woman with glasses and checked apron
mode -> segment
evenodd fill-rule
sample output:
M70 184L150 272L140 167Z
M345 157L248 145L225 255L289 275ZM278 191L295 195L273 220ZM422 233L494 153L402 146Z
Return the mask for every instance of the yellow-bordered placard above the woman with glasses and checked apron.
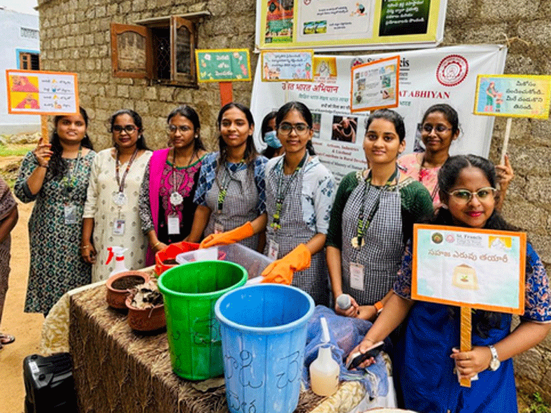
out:
M313 80L313 50L285 50L262 52L262 81Z

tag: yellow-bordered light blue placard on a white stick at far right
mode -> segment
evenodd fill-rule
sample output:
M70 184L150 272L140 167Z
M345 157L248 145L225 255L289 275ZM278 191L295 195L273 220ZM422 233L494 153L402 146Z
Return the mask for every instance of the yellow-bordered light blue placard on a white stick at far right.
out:
M551 76L479 74L475 96L477 115L547 119Z

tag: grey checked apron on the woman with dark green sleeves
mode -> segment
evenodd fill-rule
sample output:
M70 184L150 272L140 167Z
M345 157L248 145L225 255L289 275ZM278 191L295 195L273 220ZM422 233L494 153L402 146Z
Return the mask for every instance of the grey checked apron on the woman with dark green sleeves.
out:
M357 179L360 183L350 194L342 212L342 291L355 298L360 306L373 305L380 301L393 288L397 271L404 253L402 231L402 202L399 188L396 186L374 187L367 184L361 173ZM397 176L399 180L399 174ZM364 187L369 185L366 193L365 214L377 202L380 204L368 226L365 244L360 249L351 245L351 239L357 234L357 222L363 202ZM350 263L364 266L364 290L351 287Z

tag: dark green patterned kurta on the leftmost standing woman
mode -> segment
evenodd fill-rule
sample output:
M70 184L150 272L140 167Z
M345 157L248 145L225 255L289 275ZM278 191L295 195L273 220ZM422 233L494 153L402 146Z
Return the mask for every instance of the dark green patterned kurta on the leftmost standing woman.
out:
M23 158L14 193L23 202L36 201L29 220L30 270L25 312L48 313L67 290L90 283L90 264L81 257L81 217L95 156L90 151L78 162L66 160L74 178L70 192L65 191L61 178L52 179L48 171L37 195L30 193L27 180L39 164L32 152ZM76 207L76 223L65 224L65 204Z

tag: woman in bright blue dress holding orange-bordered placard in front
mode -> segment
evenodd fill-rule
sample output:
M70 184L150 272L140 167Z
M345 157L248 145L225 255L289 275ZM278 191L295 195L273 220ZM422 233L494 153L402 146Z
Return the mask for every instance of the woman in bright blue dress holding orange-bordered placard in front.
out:
M495 168L479 156L448 158L438 173L443 207L431 224L512 230L495 209ZM394 294L355 351L365 352L407 319L395 366L404 405L418 412L517 412L512 357L541 342L551 329L549 280L530 244L526 248L526 299L521 323L511 315L475 310L472 350L457 350L459 308L412 301L412 246L408 244ZM373 362L369 359L362 367ZM456 371L457 370L457 374ZM472 380L470 388L458 379Z

